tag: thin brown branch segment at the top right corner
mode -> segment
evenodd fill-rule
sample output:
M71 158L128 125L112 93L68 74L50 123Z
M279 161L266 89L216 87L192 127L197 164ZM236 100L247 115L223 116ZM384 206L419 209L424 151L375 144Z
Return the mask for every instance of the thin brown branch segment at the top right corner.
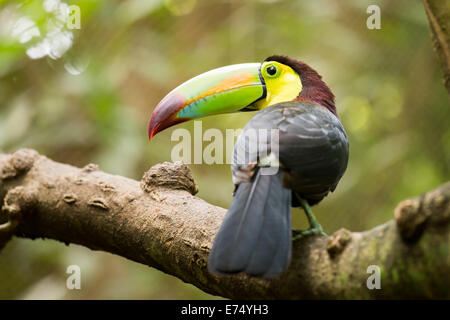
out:
M450 0L423 0L431 29L433 47L450 94Z

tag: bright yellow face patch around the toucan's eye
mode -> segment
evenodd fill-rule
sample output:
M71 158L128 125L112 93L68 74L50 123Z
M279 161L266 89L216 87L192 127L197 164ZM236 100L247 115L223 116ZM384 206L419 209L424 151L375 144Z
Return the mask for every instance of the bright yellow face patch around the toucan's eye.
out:
M261 66L261 76L266 84L267 94L254 106L264 109L280 102L292 101L302 91L302 81L291 67L276 61L266 61Z

